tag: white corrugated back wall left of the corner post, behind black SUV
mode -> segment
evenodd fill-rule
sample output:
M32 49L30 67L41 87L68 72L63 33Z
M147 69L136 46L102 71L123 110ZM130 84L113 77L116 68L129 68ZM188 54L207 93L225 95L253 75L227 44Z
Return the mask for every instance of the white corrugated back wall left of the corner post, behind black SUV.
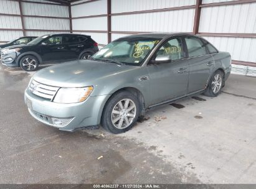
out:
M47 4L21 2L22 14L24 15L25 35L44 35L58 30L69 32L69 7L60 6L55 2L44 0L30 0L34 2L47 2ZM0 43L7 42L23 36L21 12L18 1L1 0L0 6ZM12 14L12 16L4 15ZM35 17L29 17L35 16ZM46 17L36 17L46 16ZM56 17L56 18L47 18ZM17 30L12 30L17 29ZM44 31L47 30L47 31Z

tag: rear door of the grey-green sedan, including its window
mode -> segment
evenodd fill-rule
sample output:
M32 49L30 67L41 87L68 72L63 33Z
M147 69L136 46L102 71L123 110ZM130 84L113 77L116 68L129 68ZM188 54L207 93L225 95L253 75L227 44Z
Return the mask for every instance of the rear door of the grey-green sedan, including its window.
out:
M184 43L189 60L188 93L204 90L210 70L214 68L214 58L199 37L185 36Z

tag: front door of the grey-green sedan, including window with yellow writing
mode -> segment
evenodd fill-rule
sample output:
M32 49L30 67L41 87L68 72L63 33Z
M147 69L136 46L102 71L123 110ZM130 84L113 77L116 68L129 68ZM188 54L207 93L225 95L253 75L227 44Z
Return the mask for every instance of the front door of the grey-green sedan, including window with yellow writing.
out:
M184 59L181 39L171 38L159 48L154 57L169 55L168 63L148 65L151 105L187 94L189 64Z

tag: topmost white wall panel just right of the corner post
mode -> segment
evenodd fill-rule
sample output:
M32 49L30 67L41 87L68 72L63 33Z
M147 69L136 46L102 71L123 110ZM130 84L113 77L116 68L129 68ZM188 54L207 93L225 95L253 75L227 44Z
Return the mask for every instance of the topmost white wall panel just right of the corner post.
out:
M93 1L86 4L72 6L72 17L107 14L107 0Z

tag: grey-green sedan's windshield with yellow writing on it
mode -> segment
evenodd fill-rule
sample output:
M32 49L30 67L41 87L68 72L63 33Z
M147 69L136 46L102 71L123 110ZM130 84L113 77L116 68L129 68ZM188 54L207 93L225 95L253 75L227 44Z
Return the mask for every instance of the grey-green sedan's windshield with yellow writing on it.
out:
M140 66L161 39L136 37L115 40L92 56L92 59Z

